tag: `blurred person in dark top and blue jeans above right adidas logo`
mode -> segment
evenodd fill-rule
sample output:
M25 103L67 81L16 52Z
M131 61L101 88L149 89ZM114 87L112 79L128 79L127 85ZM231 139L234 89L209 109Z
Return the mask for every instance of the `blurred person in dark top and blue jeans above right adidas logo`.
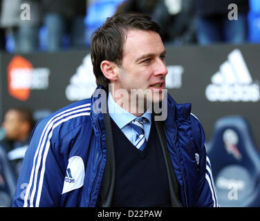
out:
M228 9L231 3L237 6L237 20L228 18L234 9ZM195 6L199 44L243 44L248 40L248 0L195 0Z

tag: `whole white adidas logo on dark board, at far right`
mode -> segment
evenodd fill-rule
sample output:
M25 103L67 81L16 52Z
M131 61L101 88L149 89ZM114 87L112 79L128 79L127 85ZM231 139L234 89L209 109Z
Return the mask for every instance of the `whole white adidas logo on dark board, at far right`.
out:
M210 102L258 102L259 84L252 80L248 67L239 49L228 55L219 71L211 78L205 95Z

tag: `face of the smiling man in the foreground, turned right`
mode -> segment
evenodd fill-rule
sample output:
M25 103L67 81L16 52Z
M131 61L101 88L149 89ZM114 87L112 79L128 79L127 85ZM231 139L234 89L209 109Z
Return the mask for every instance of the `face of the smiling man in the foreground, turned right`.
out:
M163 99L165 89L165 47L156 32L129 30L124 42L122 66L118 67L115 89L149 90L152 102Z

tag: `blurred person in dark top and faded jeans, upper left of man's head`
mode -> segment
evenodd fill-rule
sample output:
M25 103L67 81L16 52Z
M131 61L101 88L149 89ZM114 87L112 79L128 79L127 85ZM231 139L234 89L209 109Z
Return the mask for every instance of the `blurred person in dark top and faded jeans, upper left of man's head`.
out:
M42 22L47 32L46 50L62 50L64 45L84 47L86 3L87 0L41 0Z

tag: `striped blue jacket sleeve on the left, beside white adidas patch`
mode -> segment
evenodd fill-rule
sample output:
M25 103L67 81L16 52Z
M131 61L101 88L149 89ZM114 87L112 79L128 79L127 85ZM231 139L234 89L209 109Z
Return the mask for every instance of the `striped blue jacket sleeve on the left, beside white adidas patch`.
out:
M64 174L55 157L55 136L50 126L40 122L32 132L19 173L12 206L58 206Z

